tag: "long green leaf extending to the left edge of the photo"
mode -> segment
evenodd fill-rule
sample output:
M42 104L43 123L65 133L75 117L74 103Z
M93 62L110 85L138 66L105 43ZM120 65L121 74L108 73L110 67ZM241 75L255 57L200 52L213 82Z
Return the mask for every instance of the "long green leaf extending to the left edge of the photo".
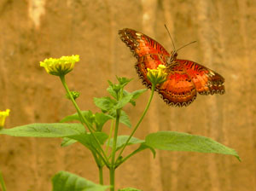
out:
M67 137L84 134L82 124L26 124L11 129L0 130L0 134L9 136Z

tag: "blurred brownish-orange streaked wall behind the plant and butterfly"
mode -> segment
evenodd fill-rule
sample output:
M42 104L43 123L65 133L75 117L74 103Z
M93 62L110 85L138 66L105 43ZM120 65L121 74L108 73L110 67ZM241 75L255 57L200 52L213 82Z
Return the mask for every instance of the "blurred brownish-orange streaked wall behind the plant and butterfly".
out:
M143 191L256 190L256 2L253 0L0 0L0 110L9 108L6 128L58 122L75 113L59 78L39 61L80 55L67 84L78 90L79 106L99 112L93 97L108 96L107 80L134 78L128 90L143 89L136 59L118 30L129 27L156 39L168 51L194 40L178 58L201 63L225 78L224 96L197 96L189 107L168 107L154 96L135 136L158 130L208 136L236 149L212 153L144 151L117 170L118 188ZM135 125L149 91L137 106L125 107ZM109 126L109 125L108 125ZM106 130L108 130L106 126ZM120 133L131 130L121 127ZM51 189L61 170L98 182L96 165L79 143L61 148L61 139L0 137L0 169L9 191ZM108 183L108 171L105 171Z

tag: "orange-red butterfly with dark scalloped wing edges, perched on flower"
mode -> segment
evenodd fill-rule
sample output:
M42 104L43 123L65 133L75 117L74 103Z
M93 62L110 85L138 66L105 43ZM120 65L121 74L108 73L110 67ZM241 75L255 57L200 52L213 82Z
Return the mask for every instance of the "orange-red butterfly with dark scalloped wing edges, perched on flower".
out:
M168 105L189 106L197 93L224 94L224 78L221 75L194 61L177 59L175 47L169 54L153 38L128 28L119 30L119 36L137 58L135 68L147 88L152 85L147 78L147 68L156 69L160 64L166 66L167 80L157 84L155 90Z

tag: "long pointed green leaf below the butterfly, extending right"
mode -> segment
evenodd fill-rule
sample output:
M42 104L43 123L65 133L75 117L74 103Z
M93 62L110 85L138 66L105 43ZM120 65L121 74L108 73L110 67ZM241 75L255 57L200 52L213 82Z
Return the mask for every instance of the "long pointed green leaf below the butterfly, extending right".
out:
M176 131L159 131L146 136L146 144L152 148L169 151L230 154L240 160L234 149L225 147L206 136L193 136Z

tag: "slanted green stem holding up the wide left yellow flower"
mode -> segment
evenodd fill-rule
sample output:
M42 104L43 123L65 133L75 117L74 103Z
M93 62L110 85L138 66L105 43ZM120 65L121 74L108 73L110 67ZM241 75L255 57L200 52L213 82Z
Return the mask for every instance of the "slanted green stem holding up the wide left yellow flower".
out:
M98 139L96 138L96 136L94 135L93 130L91 130L92 127L90 127L90 124L87 122L86 119L84 119L84 116L83 116L83 114L81 113L81 110L79 109L78 104L76 103L76 101L74 101L73 96L71 95L70 90L69 90L68 87L67 87L66 80L65 80L65 76L64 76L64 75L61 75L60 78L61 78L61 83L63 84L65 90L67 91L68 96L70 97L71 101L73 102L74 107L76 108L77 112L79 113L80 119L81 119L82 122L88 127L88 130L90 131L90 134L91 134L91 135L94 137L94 139L96 140L96 143L97 143L97 145L98 145L98 148L100 148L101 153L103 154L103 157L102 157L102 158L105 160L105 164L108 165L108 158L107 158L107 156L106 156L106 153L103 151L102 146L101 146L101 143L99 142L99 140L98 140ZM99 154L100 154L100 153L99 153Z

